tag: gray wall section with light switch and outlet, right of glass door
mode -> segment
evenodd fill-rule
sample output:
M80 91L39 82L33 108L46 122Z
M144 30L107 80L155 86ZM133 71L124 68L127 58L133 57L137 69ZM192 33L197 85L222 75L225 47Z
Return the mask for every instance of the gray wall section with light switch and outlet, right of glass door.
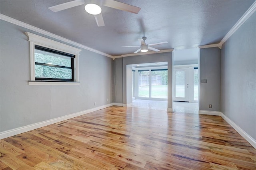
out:
M200 97L199 110L220 111L220 49L200 49ZM207 83L201 83L207 79ZM212 109L209 108L212 104Z

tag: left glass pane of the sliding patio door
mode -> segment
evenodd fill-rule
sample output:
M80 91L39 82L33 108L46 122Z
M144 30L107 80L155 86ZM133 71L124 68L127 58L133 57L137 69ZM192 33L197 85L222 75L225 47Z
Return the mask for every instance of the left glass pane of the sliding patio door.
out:
M138 97L149 97L149 71L138 72Z

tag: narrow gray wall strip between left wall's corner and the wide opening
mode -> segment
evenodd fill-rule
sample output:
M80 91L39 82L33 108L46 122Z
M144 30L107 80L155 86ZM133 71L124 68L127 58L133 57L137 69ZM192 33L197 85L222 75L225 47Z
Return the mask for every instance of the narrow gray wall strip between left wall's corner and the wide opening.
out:
M116 58L113 62L113 102L123 103L123 58Z

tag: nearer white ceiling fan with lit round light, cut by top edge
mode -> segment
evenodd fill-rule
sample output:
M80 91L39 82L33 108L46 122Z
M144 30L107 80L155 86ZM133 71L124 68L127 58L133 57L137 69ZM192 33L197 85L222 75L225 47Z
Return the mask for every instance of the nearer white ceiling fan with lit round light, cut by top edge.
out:
M118 2L115 0L74 0L70 2L66 2L64 4L59 4L56 6L49 7L48 9L52 10L53 12L58 12L61 10L66 10L68 8L72 8L75 6L86 4L84 9L89 14L94 15L96 23L98 27L105 26L102 13L101 13L101 6L107 6L110 8L115 8L118 10L123 10L127 12L132 12L134 14L138 14L140 12L140 8L136 6L132 6L129 4L125 4L122 2Z

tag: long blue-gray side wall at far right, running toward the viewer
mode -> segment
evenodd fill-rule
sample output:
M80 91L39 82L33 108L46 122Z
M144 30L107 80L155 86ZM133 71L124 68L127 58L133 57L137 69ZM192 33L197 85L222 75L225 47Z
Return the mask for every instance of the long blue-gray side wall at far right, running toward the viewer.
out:
M222 45L221 111L256 140L256 12Z

